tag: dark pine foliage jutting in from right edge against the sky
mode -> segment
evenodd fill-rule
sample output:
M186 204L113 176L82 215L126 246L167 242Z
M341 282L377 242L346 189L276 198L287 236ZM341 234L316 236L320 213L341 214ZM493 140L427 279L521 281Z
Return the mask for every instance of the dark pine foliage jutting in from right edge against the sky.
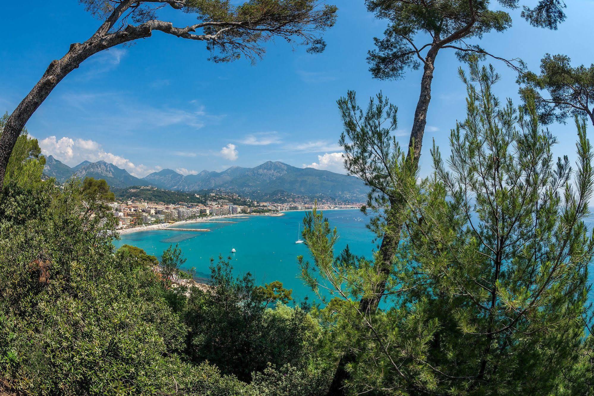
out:
M565 122L571 115L587 116L594 125L594 64L571 66L567 55L546 54L541 74L520 78L523 98L533 97L541 122Z

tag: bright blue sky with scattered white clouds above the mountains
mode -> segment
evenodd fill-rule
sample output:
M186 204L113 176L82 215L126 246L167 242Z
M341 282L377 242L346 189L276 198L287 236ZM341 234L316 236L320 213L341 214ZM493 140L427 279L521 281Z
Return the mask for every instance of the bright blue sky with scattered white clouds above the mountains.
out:
M276 40L267 43L266 55L255 65L246 59L215 64L208 61L204 42L155 32L83 62L53 90L27 130L43 153L67 165L104 160L137 177L165 168L195 174L266 161L345 172L336 100L355 90L365 104L381 91L399 108L396 136L406 146L421 71L408 71L397 81L372 78L366 54L387 21L367 12L364 0L327 2L339 12L336 26L324 34L323 54ZM1 9L0 112L10 113L49 62L91 36L100 21L77 0L4 2ZM546 53L589 65L594 2L571 0L566 11L567 20L556 31L531 27L513 11L513 27L485 34L480 44L495 55L522 58L533 71ZM195 23L192 15L174 10L163 10L160 18L176 26ZM517 102L516 74L501 62L491 63L502 76L495 92ZM465 118L459 66L453 51L440 51L421 175L432 169L432 139L447 153L450 129ZM553 124L549 130L560 138L555 154L575 158L575 126ZM591 126L588 134L592 137Z

